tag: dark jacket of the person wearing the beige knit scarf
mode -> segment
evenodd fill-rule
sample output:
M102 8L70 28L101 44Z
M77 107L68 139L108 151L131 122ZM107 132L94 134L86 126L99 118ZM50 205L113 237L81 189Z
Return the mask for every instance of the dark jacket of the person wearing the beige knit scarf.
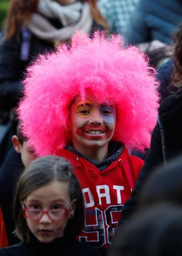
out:
M23 51L22 34L7 39L1 38L0 42L0 110L9 110L16 106L23 88L21 80L24 77L27 65L39 53L54 49L54 45L41 40L34 35L28 39L27 60L21 60Z

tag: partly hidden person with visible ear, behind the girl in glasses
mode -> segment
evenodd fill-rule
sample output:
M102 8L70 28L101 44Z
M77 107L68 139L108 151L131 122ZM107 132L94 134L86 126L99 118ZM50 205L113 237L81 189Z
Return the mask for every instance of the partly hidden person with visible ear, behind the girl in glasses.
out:
M18 122L16 135L12 136L12 148L9 150L0 168L0 248L16 244L19 239L13 234L15 223L13 220L14 187L24 166L36 158L27 145L27 138L23 136L21 122Z

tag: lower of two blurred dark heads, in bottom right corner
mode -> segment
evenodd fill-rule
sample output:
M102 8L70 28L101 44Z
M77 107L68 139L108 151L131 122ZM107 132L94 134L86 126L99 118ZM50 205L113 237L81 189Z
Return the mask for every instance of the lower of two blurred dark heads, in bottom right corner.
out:
M140 210L117 227L108 256L181 256L181 216L182 207L174 203Z

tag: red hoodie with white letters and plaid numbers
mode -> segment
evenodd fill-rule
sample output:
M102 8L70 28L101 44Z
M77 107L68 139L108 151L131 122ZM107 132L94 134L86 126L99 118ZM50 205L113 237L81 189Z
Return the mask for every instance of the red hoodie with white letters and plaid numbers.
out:
M78 239L88 245L108 248L121 218L123 204L131 196L143 160L130 156L125 147L111 165L100 171L69 150L62 149L56 154L72 163L84 195L85 227Z

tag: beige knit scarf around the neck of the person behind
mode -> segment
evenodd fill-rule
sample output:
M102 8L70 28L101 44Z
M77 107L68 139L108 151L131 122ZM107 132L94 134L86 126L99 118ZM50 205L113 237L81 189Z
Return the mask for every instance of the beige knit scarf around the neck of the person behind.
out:
M58 19L63 27L57 29L48 18ZM63 6L55 1L40 0L27 28L38 38L55 42L69 40L76 30L89 33L92 23L93 18L87 2L78 1Z

